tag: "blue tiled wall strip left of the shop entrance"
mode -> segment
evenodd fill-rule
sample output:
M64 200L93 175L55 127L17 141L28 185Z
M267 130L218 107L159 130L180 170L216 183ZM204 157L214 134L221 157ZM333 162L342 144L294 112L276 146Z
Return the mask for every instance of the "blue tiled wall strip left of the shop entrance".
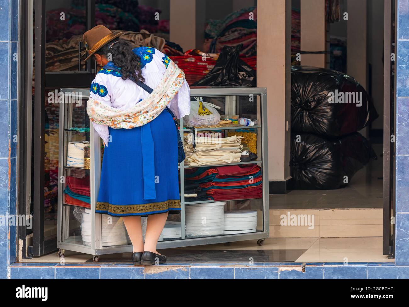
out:
M0 0L0 278L16 261L18 0Z

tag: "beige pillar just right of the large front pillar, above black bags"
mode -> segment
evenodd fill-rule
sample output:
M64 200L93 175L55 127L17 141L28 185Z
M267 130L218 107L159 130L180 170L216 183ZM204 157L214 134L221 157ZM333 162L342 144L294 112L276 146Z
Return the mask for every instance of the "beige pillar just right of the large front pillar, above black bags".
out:
M301 1L301 50L325 51L326 43L325 0ZM325 53L302 54L301 65L329 67Z

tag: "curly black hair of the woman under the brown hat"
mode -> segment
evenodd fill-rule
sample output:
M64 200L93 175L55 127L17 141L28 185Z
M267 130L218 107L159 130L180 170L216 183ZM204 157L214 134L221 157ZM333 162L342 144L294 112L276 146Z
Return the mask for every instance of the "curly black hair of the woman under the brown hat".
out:
M141 72L141 58L132 51L127 40L121 38L112 40L95 53L106 56L115 66L121 68L122 79L126 80L133 76L136 80L145 81Z

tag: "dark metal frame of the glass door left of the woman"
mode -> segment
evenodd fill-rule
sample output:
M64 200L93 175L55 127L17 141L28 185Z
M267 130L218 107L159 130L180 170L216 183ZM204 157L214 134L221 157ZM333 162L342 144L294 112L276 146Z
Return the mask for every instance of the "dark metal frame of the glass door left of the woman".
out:
M45 3L46 0L34 0L35 8L35 93L34 93L34 214L32 256L41 256L57 249L57 238L44 237L44 132L45 132L45 90L62 87L83 87L94 79L94 60L86 63L85 71L46 71L45 70ZM86 2L86 30L95 25L95 0ZM25 39L30 40L28 35ZM30 170L31 171L31 170ZM26 187L28 188L28 187ZM24 242L25 240L23 240Z

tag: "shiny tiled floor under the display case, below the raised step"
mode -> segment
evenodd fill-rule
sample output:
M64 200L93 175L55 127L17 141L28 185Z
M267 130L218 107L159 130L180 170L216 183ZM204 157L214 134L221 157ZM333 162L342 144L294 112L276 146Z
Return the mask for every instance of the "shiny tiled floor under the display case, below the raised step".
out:
M256 240L205 246L162 249L168 263L257 263L271 262L383 262L394 261L382 255L382 238L267 238L262 246ZM56 253L22 262L60 262ZM129 263L130 253L102 255L101 263ZM65 263L92 262L87 254L65 252Z

